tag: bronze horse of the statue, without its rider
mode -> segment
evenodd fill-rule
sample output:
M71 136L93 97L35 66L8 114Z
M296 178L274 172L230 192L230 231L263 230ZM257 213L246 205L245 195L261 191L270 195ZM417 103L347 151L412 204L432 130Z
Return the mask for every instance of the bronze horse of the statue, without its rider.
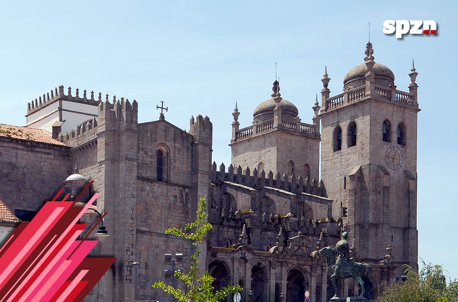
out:
M336 260L339 252L335 250L332 246L327 246L318 251L318 254L325 258L326 260L326 270L329 280L331 280L332 286L334 287L335 295L333 298L337 298L337 285L335 280L338 279L347 279L353 277L360 285L362 289L361 295L363 297L366 293L364 289L364 281L362 279L364 272L367 272L367 277L369 281L374 284L372 281L372 267L367 263L358 263L348 261L348 266L345 268L337 269Z

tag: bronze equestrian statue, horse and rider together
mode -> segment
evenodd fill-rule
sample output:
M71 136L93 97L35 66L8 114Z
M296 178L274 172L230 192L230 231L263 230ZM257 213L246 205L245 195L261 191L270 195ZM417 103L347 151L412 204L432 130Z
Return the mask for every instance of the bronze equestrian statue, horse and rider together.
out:
M332 299L337 298L337 285L335 282L337 278L343 280L352 277L355 279L361 285L362 289L362 293L359 297L363 297L366 293L364 281L362 279L364 272L367 272L369 281L374 284L372 281L372 267L369 264L350 262L347 238L348 233L343 232L340 236L340 240L335 244L335 248L327 246L318 251L320 256L325 257L327 276L334 287L335 295Z

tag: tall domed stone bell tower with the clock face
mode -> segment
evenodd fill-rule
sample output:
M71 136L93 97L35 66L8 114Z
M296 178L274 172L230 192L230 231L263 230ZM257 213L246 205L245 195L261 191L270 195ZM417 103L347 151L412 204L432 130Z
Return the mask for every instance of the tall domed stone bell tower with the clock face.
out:
M409 92L399 91L373 52L369 42L343 93L329 97L327 72L322 79L322 180L361 261L375 262L391 244L396 264L417 268L418 73L412 63Z

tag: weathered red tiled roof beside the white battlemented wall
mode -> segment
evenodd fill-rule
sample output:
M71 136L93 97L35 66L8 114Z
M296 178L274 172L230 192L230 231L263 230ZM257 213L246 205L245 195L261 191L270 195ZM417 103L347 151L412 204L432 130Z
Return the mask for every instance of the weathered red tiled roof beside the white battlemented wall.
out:
M66 146L64 143L54 139L51 133L43 129L13 126L0 123L0 136L8 136L24 140L33 140L41 143Z

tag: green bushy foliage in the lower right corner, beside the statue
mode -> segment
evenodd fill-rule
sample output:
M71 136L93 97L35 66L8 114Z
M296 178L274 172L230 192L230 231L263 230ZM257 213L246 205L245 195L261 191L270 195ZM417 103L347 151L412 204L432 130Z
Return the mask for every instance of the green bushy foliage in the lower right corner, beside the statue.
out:
M447 286L442 266L423 262L419 274L406 264L403 268L407 279L382 286L378 302L458 302L458 282Z

